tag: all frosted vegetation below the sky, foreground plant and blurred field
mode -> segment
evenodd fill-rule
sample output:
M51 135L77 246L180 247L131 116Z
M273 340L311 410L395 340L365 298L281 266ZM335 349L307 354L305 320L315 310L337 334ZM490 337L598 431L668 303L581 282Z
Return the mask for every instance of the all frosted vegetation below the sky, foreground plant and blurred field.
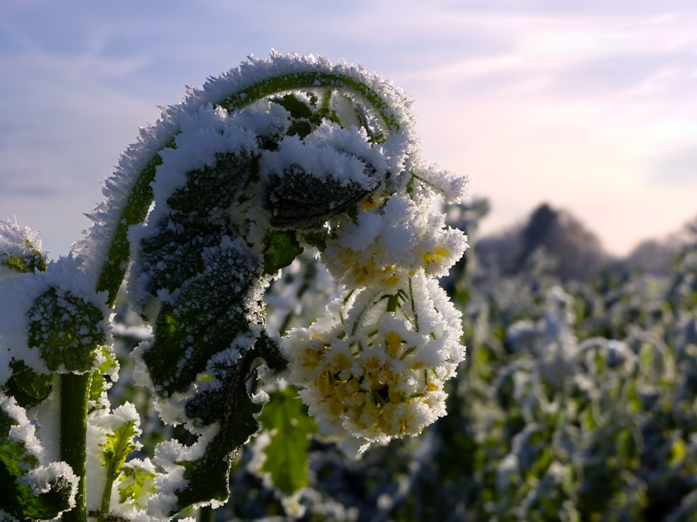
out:
M465 185L397 88L274 54L69 258L0 221L0 521L697 520L697 221L651 270L549 205L480 239Z

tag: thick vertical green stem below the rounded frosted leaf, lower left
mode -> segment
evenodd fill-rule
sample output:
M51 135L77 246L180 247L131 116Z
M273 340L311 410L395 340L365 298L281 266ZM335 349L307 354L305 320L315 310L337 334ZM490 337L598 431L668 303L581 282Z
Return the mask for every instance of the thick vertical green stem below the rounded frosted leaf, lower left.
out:
M61 459L79 477L75 507L63 514L63 522L87 522L86 445L87 401L91 372L61 375Z

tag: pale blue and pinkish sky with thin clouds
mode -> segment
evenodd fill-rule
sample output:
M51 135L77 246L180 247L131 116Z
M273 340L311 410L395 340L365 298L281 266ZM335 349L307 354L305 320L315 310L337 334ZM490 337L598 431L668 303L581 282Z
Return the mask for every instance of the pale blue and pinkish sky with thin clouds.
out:
M697 216L696 27L694 0L2 1L0 219L66 255L158 107L275 49L403 88L480 234L546 202L625 255Z

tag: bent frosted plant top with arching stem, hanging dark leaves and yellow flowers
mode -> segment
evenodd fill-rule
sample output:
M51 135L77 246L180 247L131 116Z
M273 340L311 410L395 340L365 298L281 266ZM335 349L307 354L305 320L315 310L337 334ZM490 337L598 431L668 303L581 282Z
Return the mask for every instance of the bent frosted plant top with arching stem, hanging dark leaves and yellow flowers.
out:
M231 459L268 399L248 382L259 365L270 375L288 362L266 329L264 294L306 248L348 287L290 336L314 350L295 354L315 365L296 375L311 411L377 442L445 414L443 382L464 347L434 278L466 237L436 203L466 182L425 168L417 145L411 100L389 81L272 52L187 88L125 151L75 249L109 303L130 271L129 298L153 323L135 351L137 379L164 420L197 438L158 446L165 473L148 514L229 496ZM337 387L351 411L328 398Z

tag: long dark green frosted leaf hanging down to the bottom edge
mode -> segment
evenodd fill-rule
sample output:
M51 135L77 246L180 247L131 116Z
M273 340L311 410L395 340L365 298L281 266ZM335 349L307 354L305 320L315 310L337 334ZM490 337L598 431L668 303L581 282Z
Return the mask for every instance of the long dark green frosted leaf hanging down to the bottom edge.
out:
M159 395L169 397L197 383L185 415L197 426L220 425L203 456L176 463L185 468L188 482L175 492L178 503L172 514L188 505L227 499L231 459L259 429L261 404L252 401L247 380L259 358L274 370L286 364L263 328L263 303L257 300L262 295L261 256L227 236L199 255L205 268L162 304L153 341L141 355ZM235 342L239 358L213 359Z

